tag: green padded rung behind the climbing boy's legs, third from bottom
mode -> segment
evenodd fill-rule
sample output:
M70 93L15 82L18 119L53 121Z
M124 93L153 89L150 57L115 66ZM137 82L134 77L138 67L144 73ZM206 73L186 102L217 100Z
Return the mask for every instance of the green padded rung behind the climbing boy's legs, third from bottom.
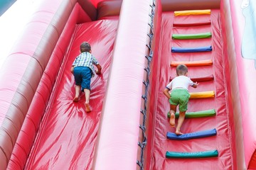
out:
M197 111L197 112L186 112L185 118L203 118L216 115L215 109L210 109L206 111ZM171 115L168 112L167 117L170 118ZM178 118L178 112L175 113L175 118Z

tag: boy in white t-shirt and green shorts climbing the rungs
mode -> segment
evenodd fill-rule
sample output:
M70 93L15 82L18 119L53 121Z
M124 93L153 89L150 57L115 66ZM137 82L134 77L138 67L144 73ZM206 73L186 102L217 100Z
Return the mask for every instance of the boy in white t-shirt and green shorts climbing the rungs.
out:
M198 83L194 83L191 79L188 78L188 67L184 64L179 64L176 67L176 77L167 84L164 89L164 95L169 98L171 106L171 118L170 124L172 128L175 128L175 113L178 106L179 116L178 116L178 125L176 127L176 135L182 135L181 125L185 119L185 113L188 110L188 99L190 94L188 93L188 86L193 86L196 88ZM169 94L171 91L171 94Z

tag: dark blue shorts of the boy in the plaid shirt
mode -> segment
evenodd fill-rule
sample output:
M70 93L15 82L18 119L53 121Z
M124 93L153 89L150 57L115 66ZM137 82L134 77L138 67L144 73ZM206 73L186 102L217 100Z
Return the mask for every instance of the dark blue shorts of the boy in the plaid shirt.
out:
M74 68L75 85L81 86L81 91L84 89L90 90L90 80L92 78L92 70L89 67Z

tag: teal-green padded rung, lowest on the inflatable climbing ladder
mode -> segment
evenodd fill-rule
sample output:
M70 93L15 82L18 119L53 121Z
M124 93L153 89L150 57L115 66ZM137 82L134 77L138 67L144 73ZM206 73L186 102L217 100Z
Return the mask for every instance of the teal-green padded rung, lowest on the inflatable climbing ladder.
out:
M218 150L204 152L166 152L166 158L208 158L218 157Z

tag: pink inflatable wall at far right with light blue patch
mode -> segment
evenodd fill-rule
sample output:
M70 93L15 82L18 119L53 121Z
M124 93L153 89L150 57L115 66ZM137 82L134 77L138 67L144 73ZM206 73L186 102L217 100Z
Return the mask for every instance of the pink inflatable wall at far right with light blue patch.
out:
M247 169L256 169L255 1L230 1Z

